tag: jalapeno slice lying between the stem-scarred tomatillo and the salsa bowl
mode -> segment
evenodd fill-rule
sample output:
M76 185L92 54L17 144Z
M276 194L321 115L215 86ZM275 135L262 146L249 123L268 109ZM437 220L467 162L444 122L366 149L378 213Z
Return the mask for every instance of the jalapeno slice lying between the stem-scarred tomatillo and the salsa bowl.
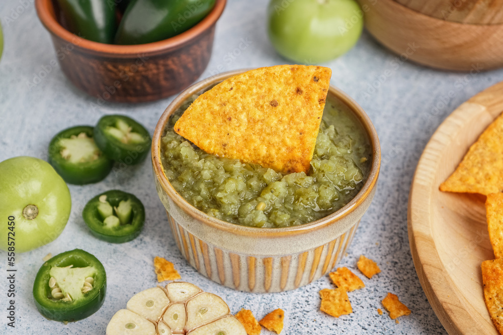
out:
M133 194L111 190L89 200L82 217L91 233L100 240L124 243L140 235L145 208Z

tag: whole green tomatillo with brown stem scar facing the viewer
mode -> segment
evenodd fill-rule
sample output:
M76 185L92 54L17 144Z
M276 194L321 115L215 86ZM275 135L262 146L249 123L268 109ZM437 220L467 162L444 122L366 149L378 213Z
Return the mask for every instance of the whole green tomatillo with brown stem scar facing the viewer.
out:
M70 216L70 191L49 163L14 157L0 163L0 249L22 253L54 241Z

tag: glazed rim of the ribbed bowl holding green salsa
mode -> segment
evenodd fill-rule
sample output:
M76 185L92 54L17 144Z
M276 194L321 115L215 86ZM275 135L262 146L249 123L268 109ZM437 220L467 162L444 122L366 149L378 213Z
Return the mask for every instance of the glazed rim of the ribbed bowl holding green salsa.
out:
M276 238L280 236L293 236L304 234L305 232L310 232L313 230L318 230L324 228L325 226L336 223L343 217L347 216L353 212L364 200L372 194L372 190L377 184L377 179L379 176L379 169L381 163L381 149L379 144L379 138L377 132L372 124L370 118L367 116L358 103L353 100L348 94L344 93L335 86L330 85L328 89L328 94L333 94L342 103L349 107L349 109L355 114L355 116L362 123L363 128L366 130L372 147L372 165L369 171L369 175L365 184L360 189L360 191L351 199L346 205L344 205L339 210L322 217L318 220L308 222L307 224L293 226L293 227L283 227L283 228L258 228L258 227L247 227L240 226L237 224L232 224L210 216L205 212L197 209L187 200L185 200L171 185L167 179L164 169L162 168L162 163L160 159L160 143L161 137L164 132L165 124L169 120L171 114L174 113L176 109L192 94L201 91L202 89L223 81L229 77L237 75L239 73L245 72L249 69L239 69L233 71L227 71L215 76L206 78L198 83L195 83L184 91L182 91L164 110L157 125L155 126L154 134L152 137L152 167L154 170L155 178L157 178L160 186L164 192L169 196L179 207L181 207L186 213L195 218L198 222L215 228L220 231L230 232L232 234L239 234L242 236L256 236L261 238Z

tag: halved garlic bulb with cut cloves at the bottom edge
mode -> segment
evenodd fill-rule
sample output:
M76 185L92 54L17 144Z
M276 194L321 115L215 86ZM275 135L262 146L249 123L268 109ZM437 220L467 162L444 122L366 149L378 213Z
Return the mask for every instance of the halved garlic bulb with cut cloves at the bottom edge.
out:
M110 320L107 335L246 335L219 296L172 282L135 294Z

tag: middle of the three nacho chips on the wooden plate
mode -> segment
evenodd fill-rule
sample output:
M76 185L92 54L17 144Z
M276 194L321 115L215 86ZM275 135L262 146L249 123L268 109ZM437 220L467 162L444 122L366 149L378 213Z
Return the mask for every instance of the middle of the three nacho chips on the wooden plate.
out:
M487 230L495 258L503 257L503 193L491 193L485 201Z

